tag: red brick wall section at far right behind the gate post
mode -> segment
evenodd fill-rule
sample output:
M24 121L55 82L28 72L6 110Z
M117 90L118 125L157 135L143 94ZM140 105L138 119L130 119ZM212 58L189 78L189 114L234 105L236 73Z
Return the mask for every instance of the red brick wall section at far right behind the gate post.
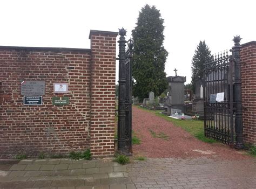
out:
M256 145L256 41L242 45L241 84L244 140Z

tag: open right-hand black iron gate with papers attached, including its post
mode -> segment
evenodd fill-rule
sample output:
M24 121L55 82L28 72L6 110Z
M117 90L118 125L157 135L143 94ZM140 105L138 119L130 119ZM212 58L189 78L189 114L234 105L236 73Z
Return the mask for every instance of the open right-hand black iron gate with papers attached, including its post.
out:
M204 64L204 130L206 137L244 149L240 40L234 37L232 55L226 51Z

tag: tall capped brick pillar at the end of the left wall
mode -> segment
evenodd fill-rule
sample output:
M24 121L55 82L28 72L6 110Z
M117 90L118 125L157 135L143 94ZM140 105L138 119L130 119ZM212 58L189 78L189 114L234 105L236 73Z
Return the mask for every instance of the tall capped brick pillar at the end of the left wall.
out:
M93 157L114 154L116 37L118 32L91 30L91 126Z

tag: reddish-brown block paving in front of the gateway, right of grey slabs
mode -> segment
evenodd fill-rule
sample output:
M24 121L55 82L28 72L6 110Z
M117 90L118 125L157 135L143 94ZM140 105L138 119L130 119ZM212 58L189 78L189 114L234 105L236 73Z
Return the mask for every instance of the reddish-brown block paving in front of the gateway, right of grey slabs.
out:
M256 188L256 159L149 159L127 165L136 188Z

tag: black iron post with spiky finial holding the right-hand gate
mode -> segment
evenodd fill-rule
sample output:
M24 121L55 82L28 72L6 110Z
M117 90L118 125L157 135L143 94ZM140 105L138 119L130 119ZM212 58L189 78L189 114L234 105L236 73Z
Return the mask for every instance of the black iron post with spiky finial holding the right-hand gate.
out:
M234 102L235 102L235 146L236 149L244 149L242 135L242 96L241 96L241 63L240 63L240 36L234 37L232 56L234 60Z

